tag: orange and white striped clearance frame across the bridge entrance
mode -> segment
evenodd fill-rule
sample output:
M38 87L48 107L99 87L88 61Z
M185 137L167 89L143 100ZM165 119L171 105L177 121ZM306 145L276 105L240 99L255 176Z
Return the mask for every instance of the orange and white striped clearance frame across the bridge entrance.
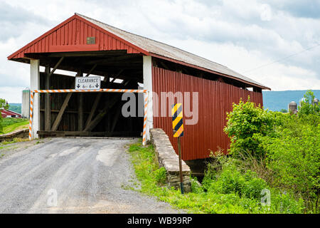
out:
M117 88L101 88L99 90L31 90L30 91L30 118L29 118L29 140L32 140L32 120L33 120L33 95L34 93L90 93L90 92L108 92L108 93L144 93L144 128L142 133L142 145L146 145L146 115L148 112L148 93L147 90L130 90Z

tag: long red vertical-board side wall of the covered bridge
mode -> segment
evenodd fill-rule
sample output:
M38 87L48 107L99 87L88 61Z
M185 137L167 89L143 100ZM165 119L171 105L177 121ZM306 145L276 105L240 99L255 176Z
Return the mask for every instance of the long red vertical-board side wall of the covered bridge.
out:
M161 100L161 92L190 92L191 112L194 110L192 92L198 92L198 123L186 125L186 119L190 118L186 118L186 116L183 118L184 136L181 138L183 160L209 157L210 151L217 151L218 148L227 152L230 140L223 132L226 113L232 110L233 103L239 103L240 98L247 100L247 96L250 95L252 102L263 105L262 93L154 66L152 67L152 89L159 97L158 103L156 98L153 99L154 128L164 129L176 151L178 149L177 139L173 137L171 116L167 114L166 117L161 117L160 107L164 105L164 101ZM185 97L183 94L183 99ZM166 100L168 106L166 113L171 112L168 101ZM157 107L159 108L159 116L155 116Z

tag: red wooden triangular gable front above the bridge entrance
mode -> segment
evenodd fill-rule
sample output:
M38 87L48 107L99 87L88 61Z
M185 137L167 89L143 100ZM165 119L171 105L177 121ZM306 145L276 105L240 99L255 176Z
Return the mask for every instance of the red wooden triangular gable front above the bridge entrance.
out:
M87 37L89 36L95 37L95 44L87 44ZM8 59L23 58L25 53L110 50L126 50L127 53L148 54L141 48L132 45L132 43L124 41L90 21L75 15L28 43L9 56Z

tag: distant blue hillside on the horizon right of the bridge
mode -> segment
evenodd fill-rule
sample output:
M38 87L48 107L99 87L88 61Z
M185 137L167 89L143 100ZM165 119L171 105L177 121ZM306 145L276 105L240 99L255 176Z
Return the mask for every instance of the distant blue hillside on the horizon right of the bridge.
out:
M312 90L316 98L320 99L320 90ZM272 111L279 111L282 108L288 109L288 104L292 101L297 102L304 97L306 90L286 90L286 91L262 91L263 105Z

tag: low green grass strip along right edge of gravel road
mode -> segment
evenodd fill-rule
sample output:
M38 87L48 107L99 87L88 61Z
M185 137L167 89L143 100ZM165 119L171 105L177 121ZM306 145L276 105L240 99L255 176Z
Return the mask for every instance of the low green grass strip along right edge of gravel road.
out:
M283 207L283 198L275 195L271 206L262 206L260 200L240 197L237 194L217 194L198 190L199 187L191 187L193 192L181 195L180 190L169 189L162 183L162 173L156 163L154 148L152 145L142 147L141 142L130 145L129 155L140 188L137 190L146 195L154 196L160 201L168 202L176 209L184 209L189 213L210 214L247 214L247 213L287 213ZM159 175L161 173L161 175ZM159 177L160 176L160 177ZM193 182L194 183L194 182ZM201 188L201 187L200 187ZM279 206L280 205L280 206ZM289 211L291 212L291 211ZM297 210L299 212L299 209Z

